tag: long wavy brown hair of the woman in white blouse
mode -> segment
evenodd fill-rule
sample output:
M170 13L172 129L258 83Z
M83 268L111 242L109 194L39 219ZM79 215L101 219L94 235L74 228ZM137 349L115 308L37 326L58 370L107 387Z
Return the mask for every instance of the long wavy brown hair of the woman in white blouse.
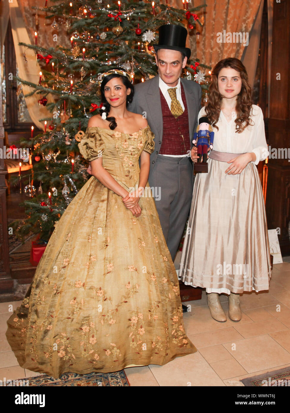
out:
M237 95L237 103L235 107L237 112L237 117L235 119L236 132L241 133L247 126L253 125L254 123L249 117L253 104L251 97L252 90L248 83L246 68L239 59L236 59L235 57L227 57L226 59L220 60L220 62L214 66L211 72L211 84L209 85L209 101L206 104L205 111L212 126L216 126L220 116L220 107L223 99L218 91L218 74L224 67L231 67L240 72L240 77L242 79L242 88ZM216 126L216 128L218 129L218 126Z

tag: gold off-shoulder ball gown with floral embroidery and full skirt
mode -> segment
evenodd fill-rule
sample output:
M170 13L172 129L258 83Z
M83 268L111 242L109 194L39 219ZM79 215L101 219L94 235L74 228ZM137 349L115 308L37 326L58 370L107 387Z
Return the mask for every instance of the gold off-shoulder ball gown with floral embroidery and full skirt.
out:
M132 135L87 128L79 150L89 161L102 156L104 168L129 190L139 181L142 150L153 152L153 137L149 126ZM139 205L136 218L93 176L68 205L7 321L20 366L53 377L108 373L197 351L185 334L154 200L143 196Z

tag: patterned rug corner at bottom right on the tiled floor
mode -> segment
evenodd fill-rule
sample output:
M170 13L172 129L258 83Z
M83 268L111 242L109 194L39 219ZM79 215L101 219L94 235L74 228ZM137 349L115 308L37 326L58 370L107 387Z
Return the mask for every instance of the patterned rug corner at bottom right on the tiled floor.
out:
M290 367L281 370L268 371L259 376L240 380L244 386L256 387L290 387Z

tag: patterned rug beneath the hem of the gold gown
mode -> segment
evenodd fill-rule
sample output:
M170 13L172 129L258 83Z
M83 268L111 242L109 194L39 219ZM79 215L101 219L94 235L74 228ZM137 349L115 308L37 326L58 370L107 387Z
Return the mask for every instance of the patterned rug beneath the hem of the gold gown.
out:
M64 373L58 379L41 374L40 376L26 377L23 383L29 381L29 386L106 386L123 387L130 386L124 370L114 373Z

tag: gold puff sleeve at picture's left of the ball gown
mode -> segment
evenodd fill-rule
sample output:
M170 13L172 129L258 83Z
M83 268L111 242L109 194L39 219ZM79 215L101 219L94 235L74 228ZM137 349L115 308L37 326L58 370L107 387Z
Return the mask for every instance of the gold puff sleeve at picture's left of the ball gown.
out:
M105 144L96 127L86 129L86 133L81 138L78 147L84 159L89 162L101 157L105 150Z

